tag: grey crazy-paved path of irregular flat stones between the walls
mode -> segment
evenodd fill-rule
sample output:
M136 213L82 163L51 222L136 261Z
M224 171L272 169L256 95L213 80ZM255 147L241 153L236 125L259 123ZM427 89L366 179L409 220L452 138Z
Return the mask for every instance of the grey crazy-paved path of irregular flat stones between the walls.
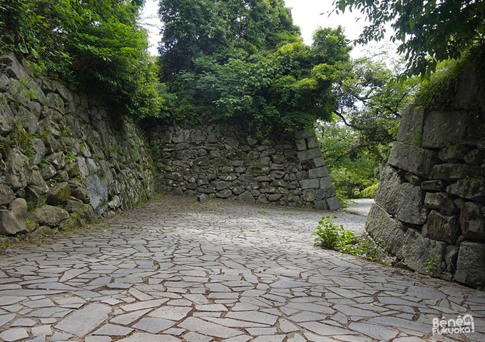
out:
M0 340L485 341L483 292L313 247L321 216L164 196L11 247ZM474 333L432 336L433 318L464 314Z

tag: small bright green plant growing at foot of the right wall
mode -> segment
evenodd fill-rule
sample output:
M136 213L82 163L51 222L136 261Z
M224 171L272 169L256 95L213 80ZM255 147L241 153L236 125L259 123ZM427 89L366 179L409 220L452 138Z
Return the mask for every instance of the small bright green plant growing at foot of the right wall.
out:
M353 232L345 230L342 224L337 225L333 222L336 218L327 215L318 222L318 226L313 232L316 246L356 257L379 260L377 248L371 247L367 242L359 242Z

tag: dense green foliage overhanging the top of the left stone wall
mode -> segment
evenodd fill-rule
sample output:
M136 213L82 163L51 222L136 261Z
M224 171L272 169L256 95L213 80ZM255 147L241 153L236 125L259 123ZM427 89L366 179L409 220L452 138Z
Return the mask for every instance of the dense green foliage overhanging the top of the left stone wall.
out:
M4 0L0 51L29 58L137 118L162 116L158 68L138 4L116 0Z

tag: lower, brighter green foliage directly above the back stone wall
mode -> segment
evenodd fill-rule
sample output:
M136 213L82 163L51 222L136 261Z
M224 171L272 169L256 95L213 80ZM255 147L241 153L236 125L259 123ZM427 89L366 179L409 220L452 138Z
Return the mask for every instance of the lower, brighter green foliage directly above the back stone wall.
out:
M264 1L255 4L260 2ZM262 40L267 42L267 34L260 39L266 37ZM333 88L339 70L349 60L342 28L318 30L312 46L295 36L288 42L287 34L283 36L279 44L262 44L245 56L234 54L224 44L220 48L225 49L225 58L216 52L195 53L181 71L164 62L171 53L178 53L175 47L173 52L165 46L161 61L171 75L168 88L176 94L171 120L197 124L232 118L260 133L275 126L292 131L328 120L338 108Z

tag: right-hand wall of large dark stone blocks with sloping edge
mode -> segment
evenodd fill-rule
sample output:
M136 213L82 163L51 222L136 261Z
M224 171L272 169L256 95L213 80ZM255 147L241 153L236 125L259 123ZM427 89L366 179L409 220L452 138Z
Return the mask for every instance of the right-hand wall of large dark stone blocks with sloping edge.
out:
M485 286L483 86L464 72L449 110L407 108L367 232L422 274Z

